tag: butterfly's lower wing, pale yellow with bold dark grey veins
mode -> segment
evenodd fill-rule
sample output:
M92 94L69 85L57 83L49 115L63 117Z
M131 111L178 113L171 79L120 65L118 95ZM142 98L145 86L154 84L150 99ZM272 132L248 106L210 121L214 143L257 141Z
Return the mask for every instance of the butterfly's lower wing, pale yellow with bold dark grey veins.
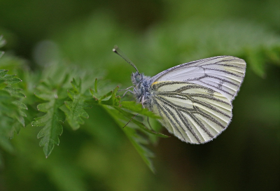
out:
M206 143L228 127L232 104L209 87L184 82L151 85L152 111L160 122L181 141Z

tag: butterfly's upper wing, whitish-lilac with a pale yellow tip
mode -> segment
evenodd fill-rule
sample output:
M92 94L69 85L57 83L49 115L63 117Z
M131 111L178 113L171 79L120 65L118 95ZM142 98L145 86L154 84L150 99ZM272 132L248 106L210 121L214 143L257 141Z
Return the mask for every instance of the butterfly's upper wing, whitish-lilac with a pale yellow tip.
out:
M232 56L219 56L200 59L153 76L151 81L180 81L195 83L223 94L230 101L235 98L244 79L246 62Z

